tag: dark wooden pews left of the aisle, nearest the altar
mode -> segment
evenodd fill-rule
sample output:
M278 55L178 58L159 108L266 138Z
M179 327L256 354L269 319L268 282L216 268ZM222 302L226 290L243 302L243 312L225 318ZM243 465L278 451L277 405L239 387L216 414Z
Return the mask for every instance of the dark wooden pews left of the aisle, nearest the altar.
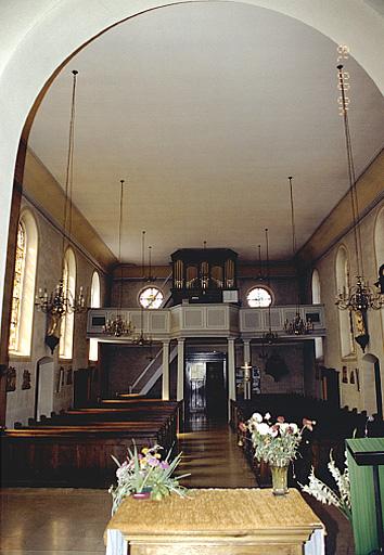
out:
M7 429L0 435L2 482L105 488L115 480L111 455L123 462L133 441L138 449L175 444L178 413L175 402L154 412L86 409Z

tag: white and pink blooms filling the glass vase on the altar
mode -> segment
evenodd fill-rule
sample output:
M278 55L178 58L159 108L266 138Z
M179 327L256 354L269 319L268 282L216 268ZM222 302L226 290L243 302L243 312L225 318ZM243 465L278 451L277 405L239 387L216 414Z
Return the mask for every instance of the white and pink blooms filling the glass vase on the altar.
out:
M277 422L272 424L269 413L263 417L261 414L255 412L246 424L240 424L240 429L251 433L255 457L258 461L282 467L287 466L290 461L296 459L303 431L305 429L312 430L315 424L315 421L303 418L303 427L298 428L295 423L286 423L284 416L278 416Z

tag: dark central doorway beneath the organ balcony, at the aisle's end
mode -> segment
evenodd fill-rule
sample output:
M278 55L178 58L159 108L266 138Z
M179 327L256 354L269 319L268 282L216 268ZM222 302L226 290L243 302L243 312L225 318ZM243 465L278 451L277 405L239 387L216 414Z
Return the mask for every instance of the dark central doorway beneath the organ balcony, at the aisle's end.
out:
M185 360L185 412L195 422L223 422L228 415L223 352L199 352Z

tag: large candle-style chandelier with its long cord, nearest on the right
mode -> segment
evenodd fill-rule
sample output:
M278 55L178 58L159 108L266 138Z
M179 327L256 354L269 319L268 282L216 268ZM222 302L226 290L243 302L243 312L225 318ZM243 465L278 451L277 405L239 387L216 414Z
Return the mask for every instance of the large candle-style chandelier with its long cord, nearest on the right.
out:
M338 105L340 115L343 116L344 122L357 276L355 285L351 285L348 288L343 287L343 291L338 292L335 299L335 304L340 308L340 310L351 310L354 312L361 312L370 308L379 310L384 305L384 294L381 293L380 289L377 292L372 289L372 287L369 285L368 281L363 276L364 270L361 248L360 215L356 190L356 173L348 120L349 99L346 95L346 91L349 90L349 83L347 82L349 80L349 74L348 72L343 72L343 67L344 66L342 64L337 65L338 89L341 91L341 96L338 98Z

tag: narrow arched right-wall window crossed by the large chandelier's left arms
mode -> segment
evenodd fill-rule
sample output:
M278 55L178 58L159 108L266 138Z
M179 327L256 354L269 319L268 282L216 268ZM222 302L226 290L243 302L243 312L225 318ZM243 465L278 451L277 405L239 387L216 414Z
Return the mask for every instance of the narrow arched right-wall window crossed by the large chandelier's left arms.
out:
M338 248L336 255L336 289L337 293L349 291L349 259L344 246ZM348 357L355 352L350 311L338 310L338 322L342 357Z

